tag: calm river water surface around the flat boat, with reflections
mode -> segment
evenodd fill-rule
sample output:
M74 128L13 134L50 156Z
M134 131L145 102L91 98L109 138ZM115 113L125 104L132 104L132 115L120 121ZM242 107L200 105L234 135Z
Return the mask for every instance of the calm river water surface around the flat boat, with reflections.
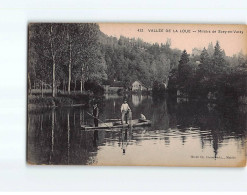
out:
M122 97L100 104L100 119L120 118ZM28 161L34 164L232 166L245 155L246 108L202 102L129 97L133 118L151 127L85 131L91 108L28 114ZM227 159L227 161L226 161Z

